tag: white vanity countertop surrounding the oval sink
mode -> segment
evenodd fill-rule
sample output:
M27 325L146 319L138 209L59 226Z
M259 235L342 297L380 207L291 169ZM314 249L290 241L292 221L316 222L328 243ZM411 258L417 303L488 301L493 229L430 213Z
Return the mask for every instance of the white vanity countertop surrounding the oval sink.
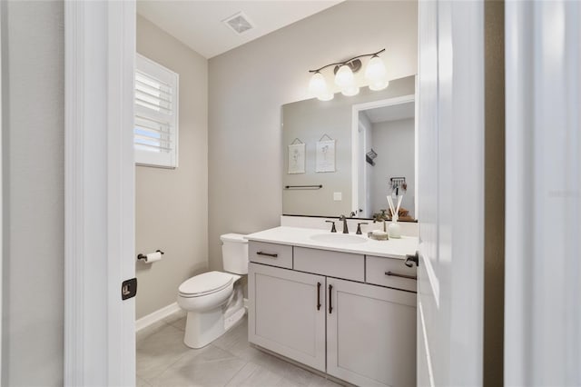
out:
M330 234L329 231L320 229L280 226L258 233L251 233L246 235L245 239L248 239L249 241L291 244L293 246L310 247L313 249L332 250L343 253L359 253L399 259L405 259L407 254L414 254L418 250L418 238L415 236L402 236L399 239L376 241L369 239L367 235L357 235L364 238L365 242L349 244L320 242L310 238L313 235L324 233ZM350 233L350 235L355 235L355 233Z

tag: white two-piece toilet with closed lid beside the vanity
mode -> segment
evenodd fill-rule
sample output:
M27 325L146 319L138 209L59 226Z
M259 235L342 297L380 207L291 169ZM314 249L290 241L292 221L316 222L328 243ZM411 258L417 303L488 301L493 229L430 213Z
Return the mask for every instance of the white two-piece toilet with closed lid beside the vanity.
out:
M248 241L239 233L226 233L222 241L223 272L208 272L184 281L178 305L188 313L183 342L202 348L237 323L245 313L237 274L248 273Z

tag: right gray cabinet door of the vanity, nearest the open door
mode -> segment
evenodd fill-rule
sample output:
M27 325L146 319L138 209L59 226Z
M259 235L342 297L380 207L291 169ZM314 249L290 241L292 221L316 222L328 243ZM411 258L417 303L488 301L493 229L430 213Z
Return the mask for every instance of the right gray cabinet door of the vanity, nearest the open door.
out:
M365 386L416 385L416 294L327 278L327 372Z

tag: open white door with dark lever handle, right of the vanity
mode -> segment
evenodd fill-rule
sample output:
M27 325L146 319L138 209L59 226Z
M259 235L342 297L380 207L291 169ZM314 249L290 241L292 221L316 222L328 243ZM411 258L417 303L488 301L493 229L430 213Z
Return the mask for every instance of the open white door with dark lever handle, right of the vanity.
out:
M419 2L420 386L482 384L483 53L483 2Z

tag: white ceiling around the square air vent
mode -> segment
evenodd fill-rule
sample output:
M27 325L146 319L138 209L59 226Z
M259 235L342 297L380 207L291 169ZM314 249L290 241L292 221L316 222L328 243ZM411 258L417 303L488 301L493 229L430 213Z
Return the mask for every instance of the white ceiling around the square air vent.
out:
M209 59L341 1L138 0L137 13ZM255 25L242 35L222 23L239 12Z

